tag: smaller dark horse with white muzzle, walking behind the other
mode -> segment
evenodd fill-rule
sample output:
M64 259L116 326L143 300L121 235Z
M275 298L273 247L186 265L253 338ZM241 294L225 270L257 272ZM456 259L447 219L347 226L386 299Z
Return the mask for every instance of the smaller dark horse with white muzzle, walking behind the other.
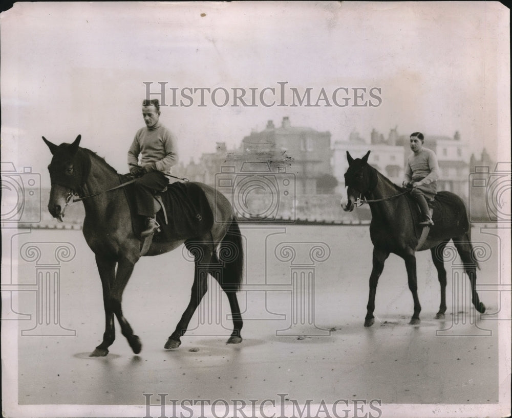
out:
M464 264L464 270L471 282L472 302L476 310L485 312L475 290L476 268L478 263L471 245L471 227L468 222L463 201L453 193L439 192L436 199L443 199L450 210L434 211L435 225L430 227L429 235L423 244L420 242L421 229L417 226L419 214L415 210L416 203L410 194L404 192L388 178L368 164L370 151L362 158L354 159L347 151L349 168L345 173L347 186L347 202L342 203L344 211L352 211L361 197L368 201L372 213L370 237L373 243L373 268L370 275L370 295L368 297L365 327L374 323L375 293L377 282L384 268L384 262L390 253L397 254L406 263L409 289L414 299L414 314L410 324L420 322L421 306L417 293L416 251L430 249L432 260L437 269L441 286L441 304L436 319L443 319L446 312L446 270L444 269L443 250L453 240L455 248Z

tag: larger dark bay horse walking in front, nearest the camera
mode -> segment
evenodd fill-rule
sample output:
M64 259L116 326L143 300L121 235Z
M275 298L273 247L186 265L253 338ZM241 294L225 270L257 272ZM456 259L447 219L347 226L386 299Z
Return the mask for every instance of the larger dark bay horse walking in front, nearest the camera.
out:
M130 279L135 263L140 258L140 239L134 234L130 207L123 189L108 191L120 184L116 170L94 152L80 148L80 135L72 144L54 145L43 140L53 154L48 166L52 188L48 210L62 221L65 209L73 196L87 197L83 200L86 217L83 221L83 235L96 256L96 264L103 288L105 309L105 332L103 341L91 356L106 356L108 347L114 342L114 315L135 354L140 353L142 343L134 335L130 323L121 309L124 288ZM240 289L243 270L243 247L240 229L234 218L231 204L219 192L206 184L197 183L204 191L213 213L215 222L210 231L202 237L191 236L169 242L153 242L145 254L156 256L171 251L181 244L195 258L194 284L190 303L185 309L175 331L165 343L165 349L174 349L181 344L180 337L207 290L207 274L210 273L226 292L233 318L233 332L228 343L242 341L242 316L236 292ZM217 250L217 251L216 251ZM223 257L223 254L228 254ZM212 273L221 271L219 274ZM207 272L207 273L205 273Z

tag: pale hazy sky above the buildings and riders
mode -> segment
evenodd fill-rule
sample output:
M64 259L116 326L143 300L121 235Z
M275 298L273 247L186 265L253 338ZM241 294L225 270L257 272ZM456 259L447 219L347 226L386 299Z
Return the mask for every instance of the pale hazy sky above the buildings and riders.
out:
M164 83L166 104L177 92L160 120L185 164L285 116L331 132L333 144L373 128L459 131L471 152L510 159L509 13L499 3L22 3L0 24L2 161L32 167L43 185L51 154L41 136L60 144L81 134L81 146L127 172L144 82L152 92ZM267 89L259 100L281 85L284 99L265 106L275 99ZM217 90L213 100L203 90L204 106L196 90L187 106L184 88ZM256 91L255 105L232 106L233 88L246 102ZM326 96L290 106L292 88L309 88L311 104ZM338 103L349 92L347 106L334 105L334 91Z

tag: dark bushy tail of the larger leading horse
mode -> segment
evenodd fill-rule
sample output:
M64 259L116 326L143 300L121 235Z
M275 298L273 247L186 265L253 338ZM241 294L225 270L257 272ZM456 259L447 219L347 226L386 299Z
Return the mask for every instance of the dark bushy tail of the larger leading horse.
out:
M238 292L243 279L244 247L240 227L234 216L221 241L218 258L223 265L221 287L226 291Z

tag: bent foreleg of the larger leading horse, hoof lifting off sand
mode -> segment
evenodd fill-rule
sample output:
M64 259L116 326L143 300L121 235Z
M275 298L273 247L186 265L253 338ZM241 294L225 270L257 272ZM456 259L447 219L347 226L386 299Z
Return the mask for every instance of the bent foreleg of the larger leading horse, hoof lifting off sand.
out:
M121 333L126 337L130 347L135 354L139 354L142 350L142 343L137 335L134 335L132 327L126 320L121 309L121 300L124 288L132 275L134 263L126 259L121 259L117 263L116 280L111 289L111 297L109 300L110 307L119 321Z

